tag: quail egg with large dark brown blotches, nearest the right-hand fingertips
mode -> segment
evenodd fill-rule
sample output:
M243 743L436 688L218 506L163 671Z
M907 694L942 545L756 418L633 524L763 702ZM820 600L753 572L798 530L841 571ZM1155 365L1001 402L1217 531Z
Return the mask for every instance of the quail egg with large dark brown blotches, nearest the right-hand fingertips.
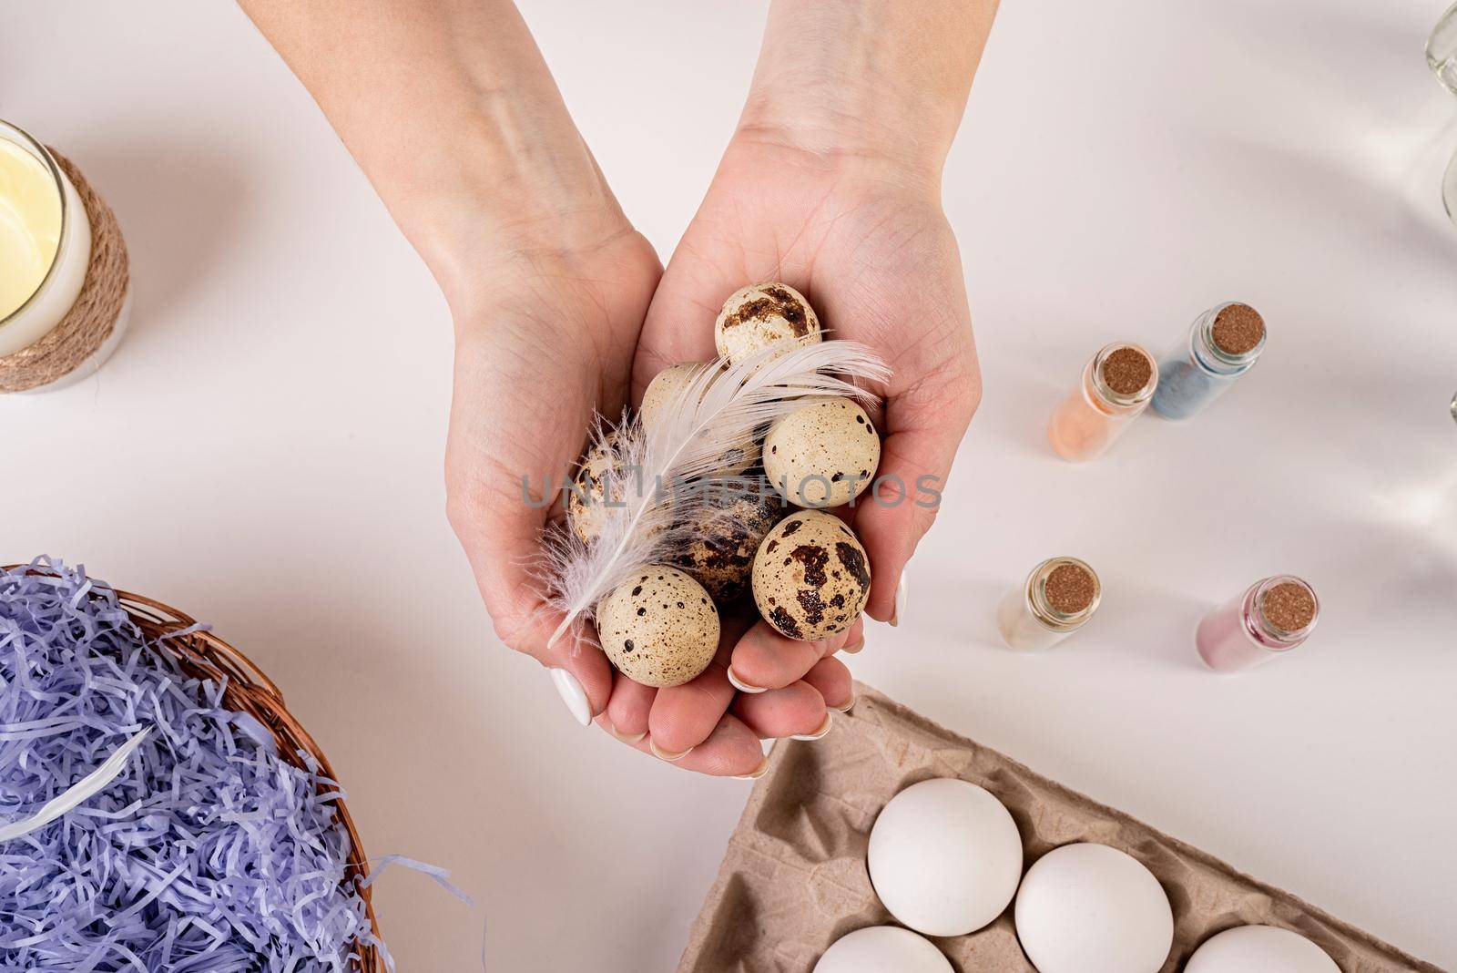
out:
M753 558L753 600L788 638L813 641L844 632L867 597L870 559L833 514L790 514L765 535Z

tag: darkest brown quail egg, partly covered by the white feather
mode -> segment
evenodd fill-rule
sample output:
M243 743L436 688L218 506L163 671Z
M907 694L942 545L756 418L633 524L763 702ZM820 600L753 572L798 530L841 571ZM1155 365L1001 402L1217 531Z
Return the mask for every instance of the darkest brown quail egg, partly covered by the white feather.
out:
M708 588L718 604L745 593L759 542L784 516L784 503L762 479L734 481L733 489L712 489L692 520L692 540L675 561Z

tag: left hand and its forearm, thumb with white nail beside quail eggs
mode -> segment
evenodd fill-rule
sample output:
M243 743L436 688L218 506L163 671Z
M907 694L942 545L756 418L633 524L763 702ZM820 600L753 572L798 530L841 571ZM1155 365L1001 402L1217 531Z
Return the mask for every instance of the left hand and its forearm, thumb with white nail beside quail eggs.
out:
M510 0L243 0L430 265L456 331L450 523L501 641L552 674L589 724L613 692L532 565L594 415L628 401L661 267L608 189ZM523 478L527 494L523 495ZM640 688L618 680L634 693ZM720 708L720 717L721 708ZM698 769L743 773L758 740L726 717Z

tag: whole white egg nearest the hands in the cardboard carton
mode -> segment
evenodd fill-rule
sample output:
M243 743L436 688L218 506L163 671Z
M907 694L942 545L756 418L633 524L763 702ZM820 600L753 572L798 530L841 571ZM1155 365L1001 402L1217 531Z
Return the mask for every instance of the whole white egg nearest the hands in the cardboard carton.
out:
M1017 893L1021 835L991 791L954 778L921 781L880 811L867 862L896 919L925 935L965 935Z

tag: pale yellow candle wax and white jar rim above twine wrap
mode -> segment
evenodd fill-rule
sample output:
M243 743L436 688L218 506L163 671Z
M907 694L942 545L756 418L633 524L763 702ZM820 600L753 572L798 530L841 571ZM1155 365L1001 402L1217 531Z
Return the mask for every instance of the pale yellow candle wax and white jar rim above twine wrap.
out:
M51 154L0 122L0 355L48 335L90 264L90 220Z

